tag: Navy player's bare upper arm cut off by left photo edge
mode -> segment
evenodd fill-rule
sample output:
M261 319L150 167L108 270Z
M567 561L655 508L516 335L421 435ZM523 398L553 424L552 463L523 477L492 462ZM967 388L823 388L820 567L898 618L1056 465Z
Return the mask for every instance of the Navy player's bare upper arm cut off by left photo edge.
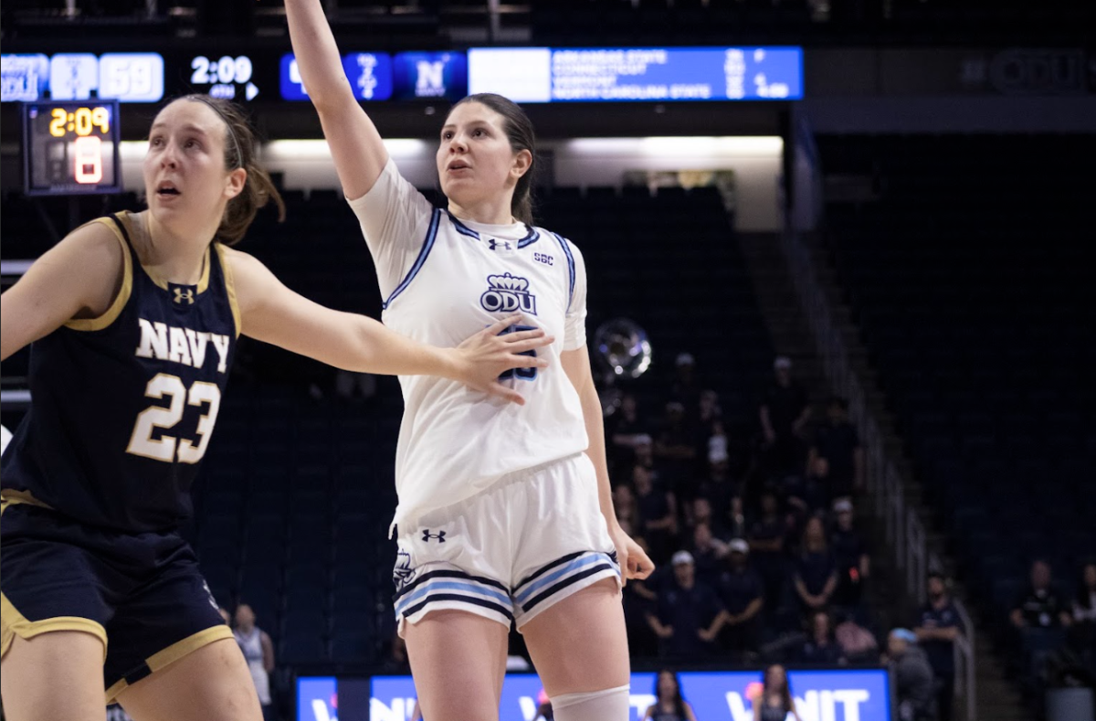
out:
M107 312L123 278L125 251L109 228L77 228L0 296L0 359L66 321Z

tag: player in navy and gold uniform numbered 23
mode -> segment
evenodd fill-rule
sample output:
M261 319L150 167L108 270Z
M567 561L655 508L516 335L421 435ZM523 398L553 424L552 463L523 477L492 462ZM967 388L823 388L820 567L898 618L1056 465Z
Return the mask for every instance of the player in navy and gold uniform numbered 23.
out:
M238 336L341 368L496 378L545 367L539 333L459 347L318 306L228 248L281 198L240 111L193 95L157 115L149 208L100 218L0 299L0 352L28 343L33 403L3 454L2 693L12 721L259 721L247 664L178 534ZM510 319L512 323L514 319ZM456 344L453 344L456 345Z

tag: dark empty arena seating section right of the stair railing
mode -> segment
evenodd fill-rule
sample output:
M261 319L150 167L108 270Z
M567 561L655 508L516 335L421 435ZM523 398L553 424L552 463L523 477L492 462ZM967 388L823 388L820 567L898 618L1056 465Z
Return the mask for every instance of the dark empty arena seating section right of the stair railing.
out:
M826 234L920 480L1013 671L1034 558L1072 598L1096 551L1093 136L822 137ZM1087 150L1085 150L1087 148ZM1087 378L1087 380L1086 380ZM1034 651L1035 649L1026 649ZM1030 688L1030 686L1029 686Z

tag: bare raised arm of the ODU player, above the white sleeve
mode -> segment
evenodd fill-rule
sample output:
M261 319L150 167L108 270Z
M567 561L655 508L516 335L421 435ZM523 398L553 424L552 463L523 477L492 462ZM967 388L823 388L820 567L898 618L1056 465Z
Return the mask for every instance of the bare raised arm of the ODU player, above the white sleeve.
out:
M297 69L320 115L343 193L362 197L385 169L388 151L346 80L320 0L286 0L285 12Z

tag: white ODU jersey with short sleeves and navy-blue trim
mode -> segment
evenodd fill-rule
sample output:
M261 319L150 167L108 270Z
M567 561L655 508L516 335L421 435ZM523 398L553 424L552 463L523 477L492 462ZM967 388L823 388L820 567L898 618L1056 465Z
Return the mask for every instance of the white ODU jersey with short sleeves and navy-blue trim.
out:
M434 208L389 160L376 185L350 202L373 253L383 319L422 343L454 347L515 312L517 329L556 337L538 348L548 368L520 368L504 384L517 405L459 382L401 376L395 524L459 503L500 477L586 449L579 394L560 353L586 342L586 273L579 250L541 228L460 221Z

